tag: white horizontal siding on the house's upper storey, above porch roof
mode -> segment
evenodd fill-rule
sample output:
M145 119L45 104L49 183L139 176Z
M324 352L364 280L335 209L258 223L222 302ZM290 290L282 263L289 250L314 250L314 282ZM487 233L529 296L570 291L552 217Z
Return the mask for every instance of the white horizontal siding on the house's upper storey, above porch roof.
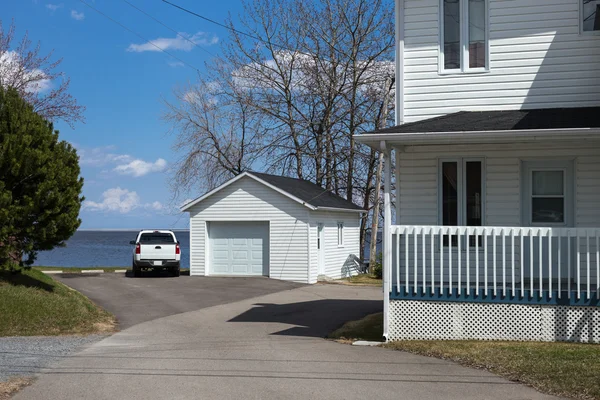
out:
M405 122L458 111L600 105L600 36L581 0L489 0L489 73L440 75L440 1L405 0Z

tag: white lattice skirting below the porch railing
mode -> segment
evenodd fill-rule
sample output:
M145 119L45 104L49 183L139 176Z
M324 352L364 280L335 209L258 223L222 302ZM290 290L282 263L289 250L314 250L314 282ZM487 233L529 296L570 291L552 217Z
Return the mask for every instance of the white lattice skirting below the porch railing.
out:
M390 301L389 340L600 343L600 308Z

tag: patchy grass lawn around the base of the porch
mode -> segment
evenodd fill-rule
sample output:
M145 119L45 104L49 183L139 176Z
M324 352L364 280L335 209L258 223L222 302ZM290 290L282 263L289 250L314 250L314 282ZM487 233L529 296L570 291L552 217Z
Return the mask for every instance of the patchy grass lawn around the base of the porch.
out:
M383 314L352 321L330 337L379 340ZM579 343L399 341L383 345L486 369L537 390L574 399L600 400L600 346Z

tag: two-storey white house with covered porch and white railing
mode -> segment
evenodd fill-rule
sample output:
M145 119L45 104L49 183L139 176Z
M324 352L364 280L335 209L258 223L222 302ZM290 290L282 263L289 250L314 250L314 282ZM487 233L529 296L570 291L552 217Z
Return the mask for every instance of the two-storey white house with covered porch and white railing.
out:
M600 0L395 5L385 336L600 342Z

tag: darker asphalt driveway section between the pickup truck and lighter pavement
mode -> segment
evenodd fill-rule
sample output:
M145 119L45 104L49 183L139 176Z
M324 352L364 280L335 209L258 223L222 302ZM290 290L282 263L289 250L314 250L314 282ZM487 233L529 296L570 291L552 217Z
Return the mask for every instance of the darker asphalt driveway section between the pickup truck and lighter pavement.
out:
M54 275L116 315L119 328L302 286L267 278L180 276L144 272Z

